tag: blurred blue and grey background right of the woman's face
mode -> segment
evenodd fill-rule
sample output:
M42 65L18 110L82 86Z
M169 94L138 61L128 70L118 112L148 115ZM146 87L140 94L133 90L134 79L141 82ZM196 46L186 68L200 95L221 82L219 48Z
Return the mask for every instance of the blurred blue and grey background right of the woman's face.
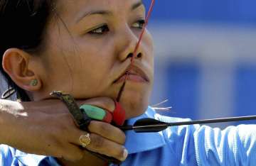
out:
M172 109L162 114L193 119L255 114L255 7L255 0L156 0L151 105L169 99L160 107Z

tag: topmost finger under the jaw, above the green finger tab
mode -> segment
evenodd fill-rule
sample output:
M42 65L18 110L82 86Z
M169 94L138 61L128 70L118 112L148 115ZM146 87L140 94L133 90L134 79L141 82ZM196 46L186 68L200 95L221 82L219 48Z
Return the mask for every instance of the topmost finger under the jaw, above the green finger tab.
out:
M114 101L107 97L97 97L97 98L87 99L86 101L81 101L79 103L80 105L90 104L92 106L98 106L110 112L114 111L114 108L115 108Z

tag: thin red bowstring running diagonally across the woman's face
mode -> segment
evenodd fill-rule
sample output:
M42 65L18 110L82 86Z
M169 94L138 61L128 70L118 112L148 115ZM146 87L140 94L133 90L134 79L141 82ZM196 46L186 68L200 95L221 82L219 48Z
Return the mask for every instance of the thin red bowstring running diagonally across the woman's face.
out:
M127 82L127 79L128 79L128 76L129 76L129 72L132 70L132 65L134 63L134 57L137 55L137 52L138 52L138 49L139 49L139 45L140 43L142 42L142 38L143 38L143 35L144 35L144 32L146 30L146 26L147 24L149 23L149 18L150 18L150 15L153 11L153 7L154 7L154 3L155 3L155 0L152 0L151 1L151 4L150 4L150 7L149 7L149 11L148 13L146 14L146 20L145 20L145 23L144 23L144 26L142 28L142 33L139 35L139 40L138 40L138 43L134 49L134 52L132 54L132 58L131 58L131 64L127 70L127 72L125 73L125 77L124 77L124 83L122 84L122 87L120 88L119 90L119 93L118 93L118 96L117 96L117 102L120 101L121 99L121 96L122 96L122 92L124 92L124 87L125 87L125 84Z

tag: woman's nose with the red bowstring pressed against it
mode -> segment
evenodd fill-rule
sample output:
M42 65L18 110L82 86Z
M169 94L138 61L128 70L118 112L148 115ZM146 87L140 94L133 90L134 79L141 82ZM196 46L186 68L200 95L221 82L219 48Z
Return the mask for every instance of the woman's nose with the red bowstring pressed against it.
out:
M118 59L120 61L127 60L128 58L134 58L141 59L144 55L142 51L142 46L139 45L139 48L137 52L134 54L134 50L136 48L136 45L139 40L139 36L137 36L131 29L126 30L125 32L122 31L122 34L120 34L121 38L119 38L119 54Z

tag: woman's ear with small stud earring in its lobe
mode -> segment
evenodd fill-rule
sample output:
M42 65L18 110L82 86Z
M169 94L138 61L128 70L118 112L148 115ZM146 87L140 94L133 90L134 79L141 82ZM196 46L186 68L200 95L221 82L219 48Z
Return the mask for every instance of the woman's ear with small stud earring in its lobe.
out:
M40 78L33 69L29 69L31 55L18 48L10 48L4 52L3 68L11 79L26 91L38 91L42 87ZM37 84L33 84L37 80Z

